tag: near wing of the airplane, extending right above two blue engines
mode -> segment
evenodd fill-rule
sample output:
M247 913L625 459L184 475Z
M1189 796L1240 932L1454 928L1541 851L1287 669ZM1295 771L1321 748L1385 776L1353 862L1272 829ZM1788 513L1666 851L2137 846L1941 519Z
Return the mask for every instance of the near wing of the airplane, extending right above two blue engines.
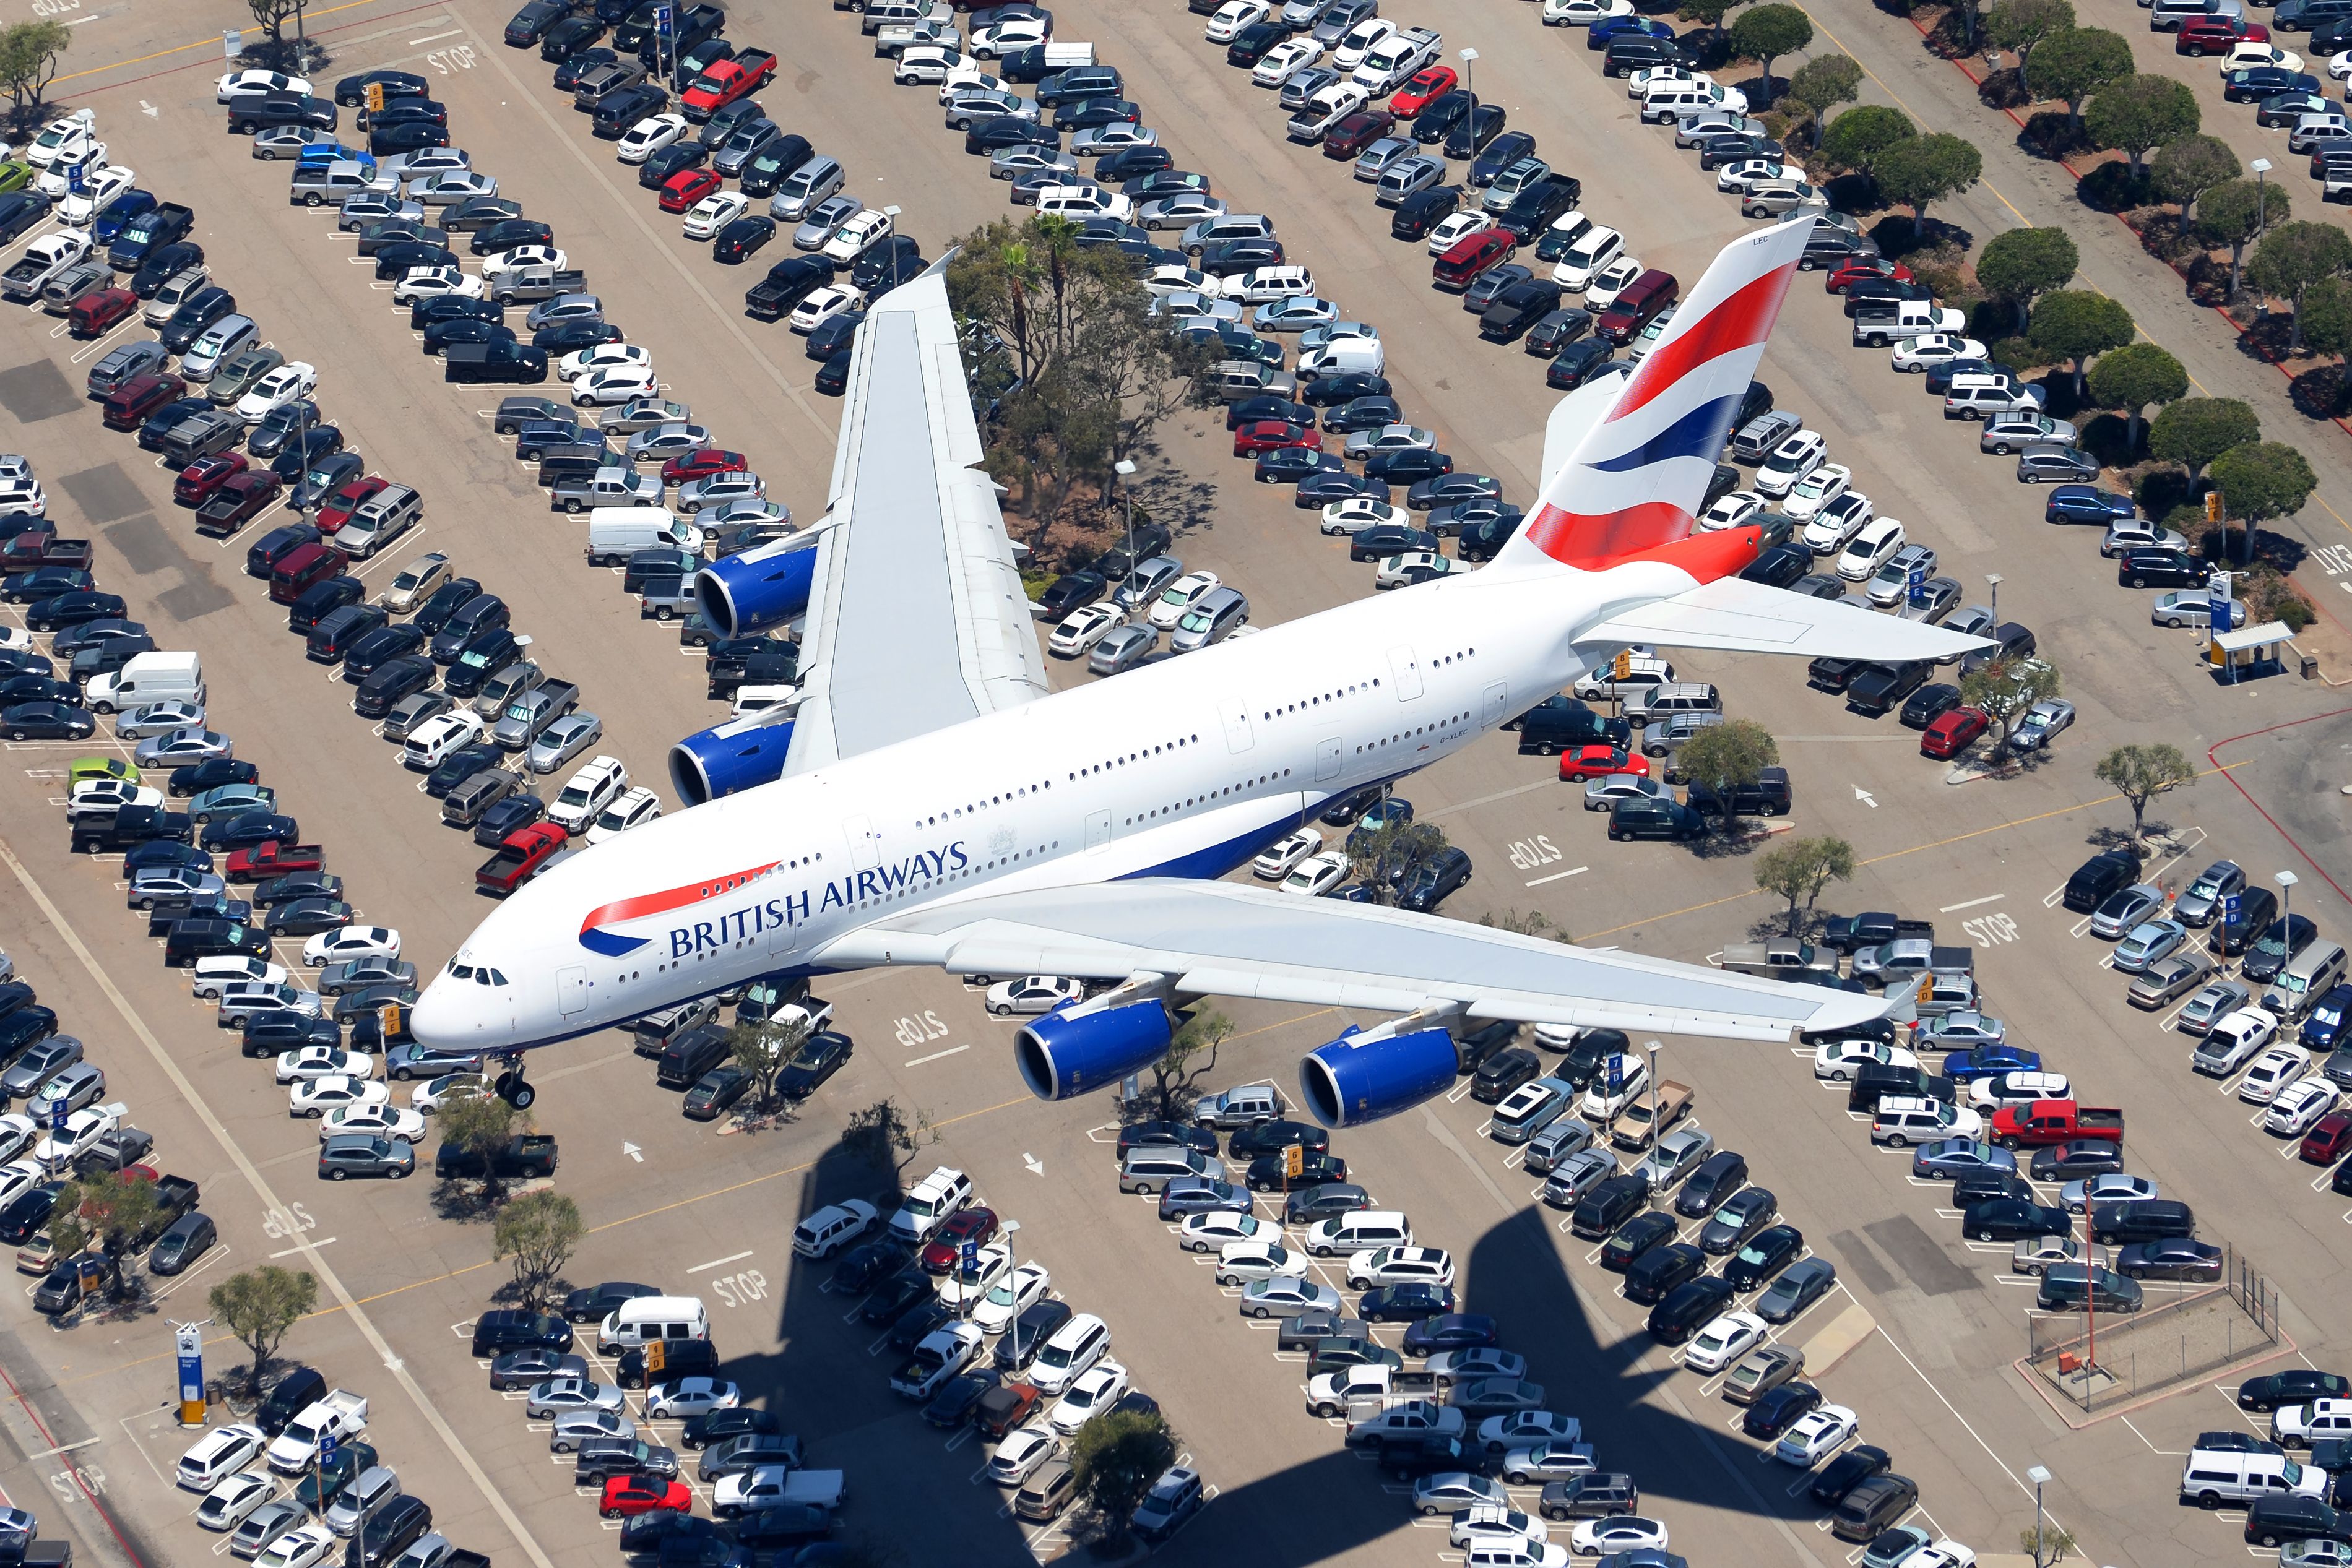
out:
M1178 992L1411 1013L1456 1004L1625 1032L1795 1039L1879 1018L1853 992L1595 952L1437 914L1294 898L1232 882L1134 879L995 893L854 931L818 964L960 973L1157 973Z

